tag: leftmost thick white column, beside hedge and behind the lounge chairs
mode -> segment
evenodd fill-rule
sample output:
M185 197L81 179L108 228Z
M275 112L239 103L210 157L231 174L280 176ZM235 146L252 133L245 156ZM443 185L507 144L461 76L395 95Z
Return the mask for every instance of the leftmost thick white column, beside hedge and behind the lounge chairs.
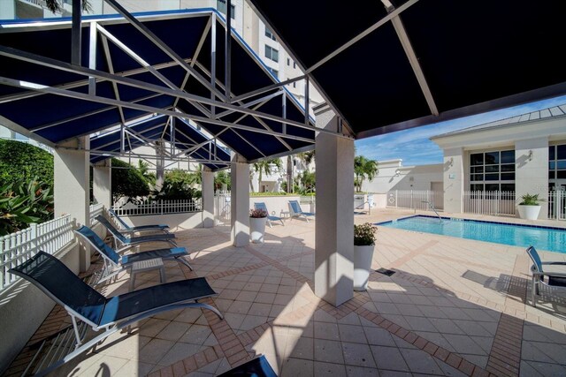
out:
M89 144L90 139L83 137L60 145L54 154L55 217L69 214L77 225L87 226L90 225ZM80 271L90 267L90 247L83 246L80 248Z

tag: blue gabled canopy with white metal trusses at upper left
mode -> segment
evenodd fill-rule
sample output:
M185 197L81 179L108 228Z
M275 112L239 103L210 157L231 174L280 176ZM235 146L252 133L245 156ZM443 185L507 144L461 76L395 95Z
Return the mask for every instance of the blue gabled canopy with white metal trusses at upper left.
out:
M226 100L219 13L128 16L83 19L80 65L71 64L70 19L0 25L0 124L51 146L103 132L92 139L92 162L164 139L180 150L203 144L188 155L226 167L214 163L228 161L226 150L205 144L187 119L249 162L314 147L312 120L235 32ZM120 124L141 138L124 147L119 132L105 134Z

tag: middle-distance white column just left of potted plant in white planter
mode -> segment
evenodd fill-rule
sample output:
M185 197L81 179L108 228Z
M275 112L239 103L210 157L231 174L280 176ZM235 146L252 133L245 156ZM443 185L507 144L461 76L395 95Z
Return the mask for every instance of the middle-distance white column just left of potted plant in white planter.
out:
M230 179L231 240L234 246L249 245L249 164L232 154Z

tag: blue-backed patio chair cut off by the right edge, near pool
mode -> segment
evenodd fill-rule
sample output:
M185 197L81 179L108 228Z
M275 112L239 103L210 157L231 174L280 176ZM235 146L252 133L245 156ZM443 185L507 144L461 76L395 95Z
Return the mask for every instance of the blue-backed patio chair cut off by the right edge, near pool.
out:
M527 248L527 254L532 259L532 306L537 306L537 296L540 295L540 284L553 290L566 291L566 262L540 260L539 253L534 246ZM543 269L544 267L544 269ZM545 279L545 276L546 279Z

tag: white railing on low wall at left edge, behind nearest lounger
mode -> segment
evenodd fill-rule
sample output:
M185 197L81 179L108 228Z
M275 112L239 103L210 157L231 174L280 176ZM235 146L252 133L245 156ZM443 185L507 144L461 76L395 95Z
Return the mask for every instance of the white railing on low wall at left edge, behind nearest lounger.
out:
M73 241L73 222L65 215L49 222L30 224L25 230L0 237L0 291L18 279L8 270L34 256L38 251L55 254Z

